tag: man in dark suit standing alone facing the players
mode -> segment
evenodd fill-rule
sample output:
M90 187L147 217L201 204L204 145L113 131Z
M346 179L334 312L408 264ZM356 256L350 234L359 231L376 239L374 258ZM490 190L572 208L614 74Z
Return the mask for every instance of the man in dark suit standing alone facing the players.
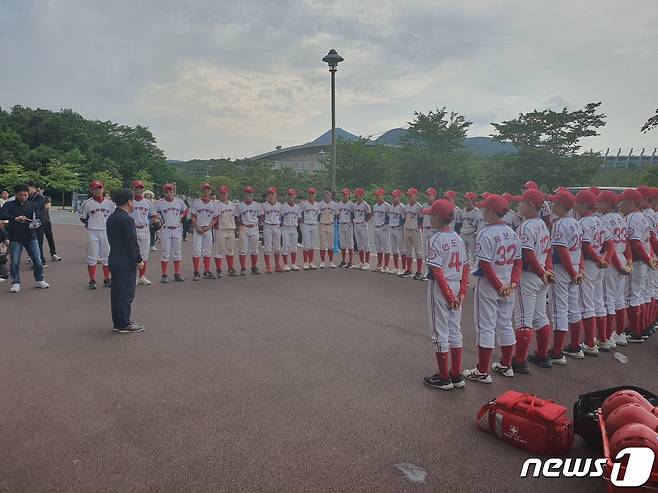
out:
M120 334L141 332L144 326L130 321L130 305L135 298L137 269L144 266L137 244L133 210L133 193L118 190L114 194L116 209L107 218L107 239L110 243L108 263L112 274L110 299L114 331Z

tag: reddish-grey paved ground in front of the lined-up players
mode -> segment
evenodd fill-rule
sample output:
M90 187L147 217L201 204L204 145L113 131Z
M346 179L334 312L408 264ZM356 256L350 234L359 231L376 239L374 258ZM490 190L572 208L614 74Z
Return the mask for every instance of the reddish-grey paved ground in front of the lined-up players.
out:
M593 389L658 388L652 339L626 365L604 355L433 391L425 284L356 271L140 287L147 331L114 334L109 290L86 289L83 229L55 235L52 289L0 285L0 491L602 491L519 479L526 456L475 413L510 388L569 407ZM471 365L470 301L463 326Z

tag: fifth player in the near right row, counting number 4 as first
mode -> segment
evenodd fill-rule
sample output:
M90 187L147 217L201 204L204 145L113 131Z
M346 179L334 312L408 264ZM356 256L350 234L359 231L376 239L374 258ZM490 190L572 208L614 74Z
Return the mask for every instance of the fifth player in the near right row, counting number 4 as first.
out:
M597 333L601 344L607 342L603 278L608 268L608 251L613 248L610 233L594 215L595 209L596 195L589 190L581 190L576 194L575 211L580 217L580 228L583 230L585 279L580 285L580 309L585 329L585 343L581 345L581 349L586 356L598 355Z

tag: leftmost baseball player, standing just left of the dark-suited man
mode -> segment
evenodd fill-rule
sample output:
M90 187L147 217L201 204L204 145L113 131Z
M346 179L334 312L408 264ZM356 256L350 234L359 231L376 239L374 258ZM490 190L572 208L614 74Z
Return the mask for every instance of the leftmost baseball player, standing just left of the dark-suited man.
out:
M110 254L110 244L107 241L105 223L115 209L114 202L105 198L103 182L94 180L90 183L91 198L85 200L78 214L80 221L87 230L87 272L89 273L89 288L96 289L96 264L100 260L103 265L103 286L109 288L110 268L107 257Z

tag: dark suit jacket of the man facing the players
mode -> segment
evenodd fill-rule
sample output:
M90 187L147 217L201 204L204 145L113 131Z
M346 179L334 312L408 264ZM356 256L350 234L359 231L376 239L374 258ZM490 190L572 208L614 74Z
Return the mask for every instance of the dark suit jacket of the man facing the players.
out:
M107 218L107 239L110 243L110 269L136 269L142 256L135 221L119 207Z

